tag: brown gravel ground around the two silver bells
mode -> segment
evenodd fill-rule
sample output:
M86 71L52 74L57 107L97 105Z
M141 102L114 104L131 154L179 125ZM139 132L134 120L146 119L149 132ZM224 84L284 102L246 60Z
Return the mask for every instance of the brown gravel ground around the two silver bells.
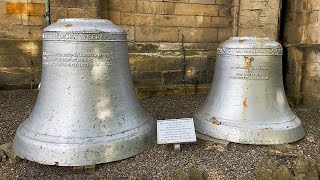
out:
M0 91L0 144L11 142L19 124L28 117L38 91ZM144 107L156 119L191 117L206 96L153 97L142 101ZM293 108L301 118L306 137L292 143L303 150L305 156L316 157L320 153L320 110L299 106ZM256 163L268 157L292 170L297 158L286 153L274 153L274 146L255 146L230 143L224 151L210 148L212 142L198 140L182 145L182 152L175 154L172 146L154 145L145 152L118 162L100 164L93 174L75 174L71 167L45 166L21 161L11 164L0 162L0 179L170 179L174 170L189 173L198 169L209 179L256 179ZM290 154L290 152L289 152ZM134 178L133 178L134 179Z

